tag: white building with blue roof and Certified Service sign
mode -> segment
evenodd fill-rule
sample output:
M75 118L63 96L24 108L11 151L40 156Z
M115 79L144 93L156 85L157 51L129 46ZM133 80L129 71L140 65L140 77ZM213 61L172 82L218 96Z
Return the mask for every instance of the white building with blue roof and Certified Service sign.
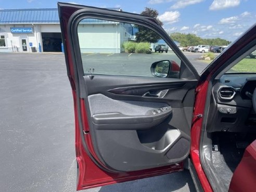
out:
M134 37L131 24L97 19L82 20L78 32L82 53L120 53ZM0 52L61 52L61 43L58 9L0 10Z

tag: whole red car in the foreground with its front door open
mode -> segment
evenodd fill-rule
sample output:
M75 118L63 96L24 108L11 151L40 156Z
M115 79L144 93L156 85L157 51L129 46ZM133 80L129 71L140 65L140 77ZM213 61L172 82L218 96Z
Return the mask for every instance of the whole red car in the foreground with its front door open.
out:
M155 18L67 3L58 9L74 101L77 190L188 169L198 191L255 191L256 73L228 69L256 48L256 25L199 75ZM96 72L87 71L93 63L80 54L84 18L143 23L176 61L120 55L115 64L117 58L96 55ZM151 67L142 68L146 61Z

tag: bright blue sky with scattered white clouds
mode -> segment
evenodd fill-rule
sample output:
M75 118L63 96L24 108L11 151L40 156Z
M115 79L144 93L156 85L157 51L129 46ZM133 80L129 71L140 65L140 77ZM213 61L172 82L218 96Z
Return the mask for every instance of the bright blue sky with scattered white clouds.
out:
M55 0L0 0L0 9L57 8ZM193 33L202 38L234 41L255 24L256 0L69 0L80 5L121 8L139 14L145 7L158 10L168 33Z

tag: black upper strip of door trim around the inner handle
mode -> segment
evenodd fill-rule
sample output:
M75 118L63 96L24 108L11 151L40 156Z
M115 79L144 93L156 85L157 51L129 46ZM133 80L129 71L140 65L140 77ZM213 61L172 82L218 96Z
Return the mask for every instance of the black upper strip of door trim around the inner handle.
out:
M185 98L188 90L195 88L198 82L197 80L111 75L93 75L91 79L89 76L84 76L88 96L103 94L119 100L164 102L172 107L181 107L182 99ZM144 95L147 92L158 94L165 90L168 91L168 94L165 93L164 97L147 97ZM194 102L192 98L190 101Z

